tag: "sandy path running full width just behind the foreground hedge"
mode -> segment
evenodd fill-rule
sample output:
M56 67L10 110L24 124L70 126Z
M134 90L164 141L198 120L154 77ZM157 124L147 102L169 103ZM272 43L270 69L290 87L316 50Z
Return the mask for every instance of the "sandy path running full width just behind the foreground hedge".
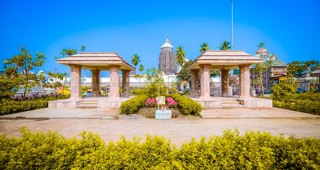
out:
M237 128L244 134L246 130L270 132L272 135L294 138L320 138L320 119L316 118L238 118L238 119L21 119L0 120L0 134L7 137L20 137L22 126L32 132L57 131L66 138L76 137L82 130L99 133L105 141L117 141L122 134L127 139L151 136L163 136L172 143L181 145L192 137L199 140L213 135L222 135L221 131Z

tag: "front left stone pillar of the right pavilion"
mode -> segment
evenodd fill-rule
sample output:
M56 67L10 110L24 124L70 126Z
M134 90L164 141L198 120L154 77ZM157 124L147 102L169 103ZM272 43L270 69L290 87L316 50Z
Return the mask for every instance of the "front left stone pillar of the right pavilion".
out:
M210 97L210 67L211 64L199 64L200 67L200 97L199 99L211 99Z

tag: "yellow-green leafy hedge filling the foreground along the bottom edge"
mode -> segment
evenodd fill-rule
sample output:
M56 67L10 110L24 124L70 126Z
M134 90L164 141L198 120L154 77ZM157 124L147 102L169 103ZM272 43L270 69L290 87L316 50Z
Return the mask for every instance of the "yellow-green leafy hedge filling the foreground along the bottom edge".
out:
M81 140L21 130L21 138L0 136L0 169L319 169L320 140L270 133L224 131L176 147L163 137L141 142L122 137L107 145L91 132Z

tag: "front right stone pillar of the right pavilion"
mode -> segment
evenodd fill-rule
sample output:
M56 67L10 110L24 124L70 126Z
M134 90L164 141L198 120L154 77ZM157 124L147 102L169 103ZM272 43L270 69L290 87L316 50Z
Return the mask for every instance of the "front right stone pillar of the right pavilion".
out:
M239 67L239 97L250 98L250 66L251 64L241 64Z

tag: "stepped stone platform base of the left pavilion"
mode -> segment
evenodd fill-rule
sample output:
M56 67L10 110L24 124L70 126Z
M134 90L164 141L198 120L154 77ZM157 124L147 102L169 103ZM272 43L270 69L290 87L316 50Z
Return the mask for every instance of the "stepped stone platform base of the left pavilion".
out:
M84 97L79 100L62 99L48 101L49 108L119 108L130 97L110 98L108 96Z

